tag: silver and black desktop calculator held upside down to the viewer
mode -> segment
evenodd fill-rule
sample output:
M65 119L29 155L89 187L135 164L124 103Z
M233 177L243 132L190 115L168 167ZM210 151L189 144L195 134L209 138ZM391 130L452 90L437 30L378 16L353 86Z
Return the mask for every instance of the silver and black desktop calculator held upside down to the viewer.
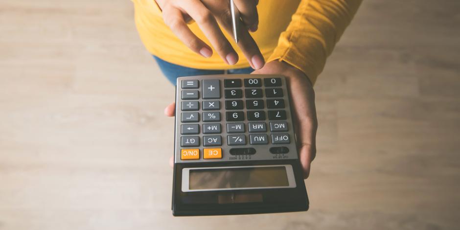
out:
M284 76L179 77L175 113L173 215L308 209Z

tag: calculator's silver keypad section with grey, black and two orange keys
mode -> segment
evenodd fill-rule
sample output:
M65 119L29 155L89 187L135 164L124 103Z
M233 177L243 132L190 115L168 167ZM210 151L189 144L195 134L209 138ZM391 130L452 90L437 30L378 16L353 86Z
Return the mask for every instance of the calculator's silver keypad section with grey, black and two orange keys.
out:
M298 158L284 77L191 76L177 86L176 162Z

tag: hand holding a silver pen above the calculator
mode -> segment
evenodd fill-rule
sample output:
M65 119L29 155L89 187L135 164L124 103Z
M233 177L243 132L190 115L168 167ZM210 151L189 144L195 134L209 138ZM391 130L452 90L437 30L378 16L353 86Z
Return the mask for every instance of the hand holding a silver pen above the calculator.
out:
M238 62L230 42L225 38L217 23L232 34L229 0L156 0L163 13L163 20L172 32L191 50L204 57L212 55L212 49L188 28L186 22L195 20L219 56L229 65ZM265 61L259 47L249 34L258 26L256 5L258 0L234 0L243 23L239 27L238 46L253 69L263 67Z

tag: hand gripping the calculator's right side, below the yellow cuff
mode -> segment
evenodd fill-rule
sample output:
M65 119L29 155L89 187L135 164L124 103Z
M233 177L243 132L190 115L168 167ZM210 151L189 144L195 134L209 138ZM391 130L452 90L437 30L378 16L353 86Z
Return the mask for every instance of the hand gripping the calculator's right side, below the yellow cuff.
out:
M316 118L315 92L308 77L299 69L286 62L271 61L262 69L253 71L252 74L277 74L284 75L287 81L294 127L299 145L299 158L303 167L303 177L310 174L311 161L316 156Z

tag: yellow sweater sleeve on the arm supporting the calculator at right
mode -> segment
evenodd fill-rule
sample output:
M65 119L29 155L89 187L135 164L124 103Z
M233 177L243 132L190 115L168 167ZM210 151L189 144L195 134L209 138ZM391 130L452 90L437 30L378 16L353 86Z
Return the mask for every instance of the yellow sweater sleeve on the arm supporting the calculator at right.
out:
M314 84L362 0L301 0L267 60L285 61Z

